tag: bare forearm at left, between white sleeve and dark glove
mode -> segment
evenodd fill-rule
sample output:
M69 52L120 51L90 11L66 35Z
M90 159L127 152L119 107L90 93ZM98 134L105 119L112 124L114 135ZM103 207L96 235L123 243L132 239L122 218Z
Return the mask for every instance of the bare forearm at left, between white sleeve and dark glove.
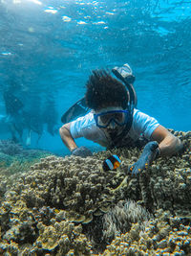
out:
M77 148L74 139L71 135L71 123L68 123L61 128L59 128L60 137L63 141L63 143L66 145L66 147L69 149L69 151L74 151L74 149Z

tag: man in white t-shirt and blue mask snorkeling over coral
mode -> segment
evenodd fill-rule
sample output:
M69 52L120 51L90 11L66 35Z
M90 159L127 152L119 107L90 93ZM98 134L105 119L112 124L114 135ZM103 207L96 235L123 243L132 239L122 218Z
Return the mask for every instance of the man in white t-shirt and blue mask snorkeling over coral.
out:
M127 67L131 76L131 69ZM85 99L92 111L60 128L61 139L73 155L92 155L87 148L78 148L75 138L85 137L111 148L129 145L143 136L150 142L132 168L137 175L159 155L171 155L182 148L180 139L160 126L155 118L132 109L125 85L108 72L93 71L87 82Z

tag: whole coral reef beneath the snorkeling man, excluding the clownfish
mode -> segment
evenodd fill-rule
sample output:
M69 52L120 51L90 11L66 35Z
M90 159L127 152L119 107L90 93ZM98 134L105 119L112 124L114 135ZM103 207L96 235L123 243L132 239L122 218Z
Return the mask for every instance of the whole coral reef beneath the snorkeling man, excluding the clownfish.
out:
M138 148L48 156L2 175L0 255L189 255L191 131L171 132L184 151L138 177L128 171ZM103 172L111 153L122 163Z

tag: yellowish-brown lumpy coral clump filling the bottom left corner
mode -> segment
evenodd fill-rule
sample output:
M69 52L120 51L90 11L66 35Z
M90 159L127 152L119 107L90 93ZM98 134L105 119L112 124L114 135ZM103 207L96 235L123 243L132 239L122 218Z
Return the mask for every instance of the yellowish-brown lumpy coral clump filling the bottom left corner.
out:
M21 252L23 255L91 254L92 245L82 234L81 224L66 221L63 211L50 207L30 210L22 199L16 200L14 196L7 194L1 207L1 250L11 255ZM11 198L14 198L14 204L10 203Z

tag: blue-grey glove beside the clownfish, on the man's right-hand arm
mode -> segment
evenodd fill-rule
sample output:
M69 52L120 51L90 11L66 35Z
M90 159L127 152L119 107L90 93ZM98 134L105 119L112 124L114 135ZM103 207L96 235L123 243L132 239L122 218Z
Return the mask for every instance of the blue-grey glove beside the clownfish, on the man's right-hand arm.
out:
M132 175L138 175L139 172L148 168L154 159L159 155L159 144L157 141L151 141L146 144L138 161L130 167Z

